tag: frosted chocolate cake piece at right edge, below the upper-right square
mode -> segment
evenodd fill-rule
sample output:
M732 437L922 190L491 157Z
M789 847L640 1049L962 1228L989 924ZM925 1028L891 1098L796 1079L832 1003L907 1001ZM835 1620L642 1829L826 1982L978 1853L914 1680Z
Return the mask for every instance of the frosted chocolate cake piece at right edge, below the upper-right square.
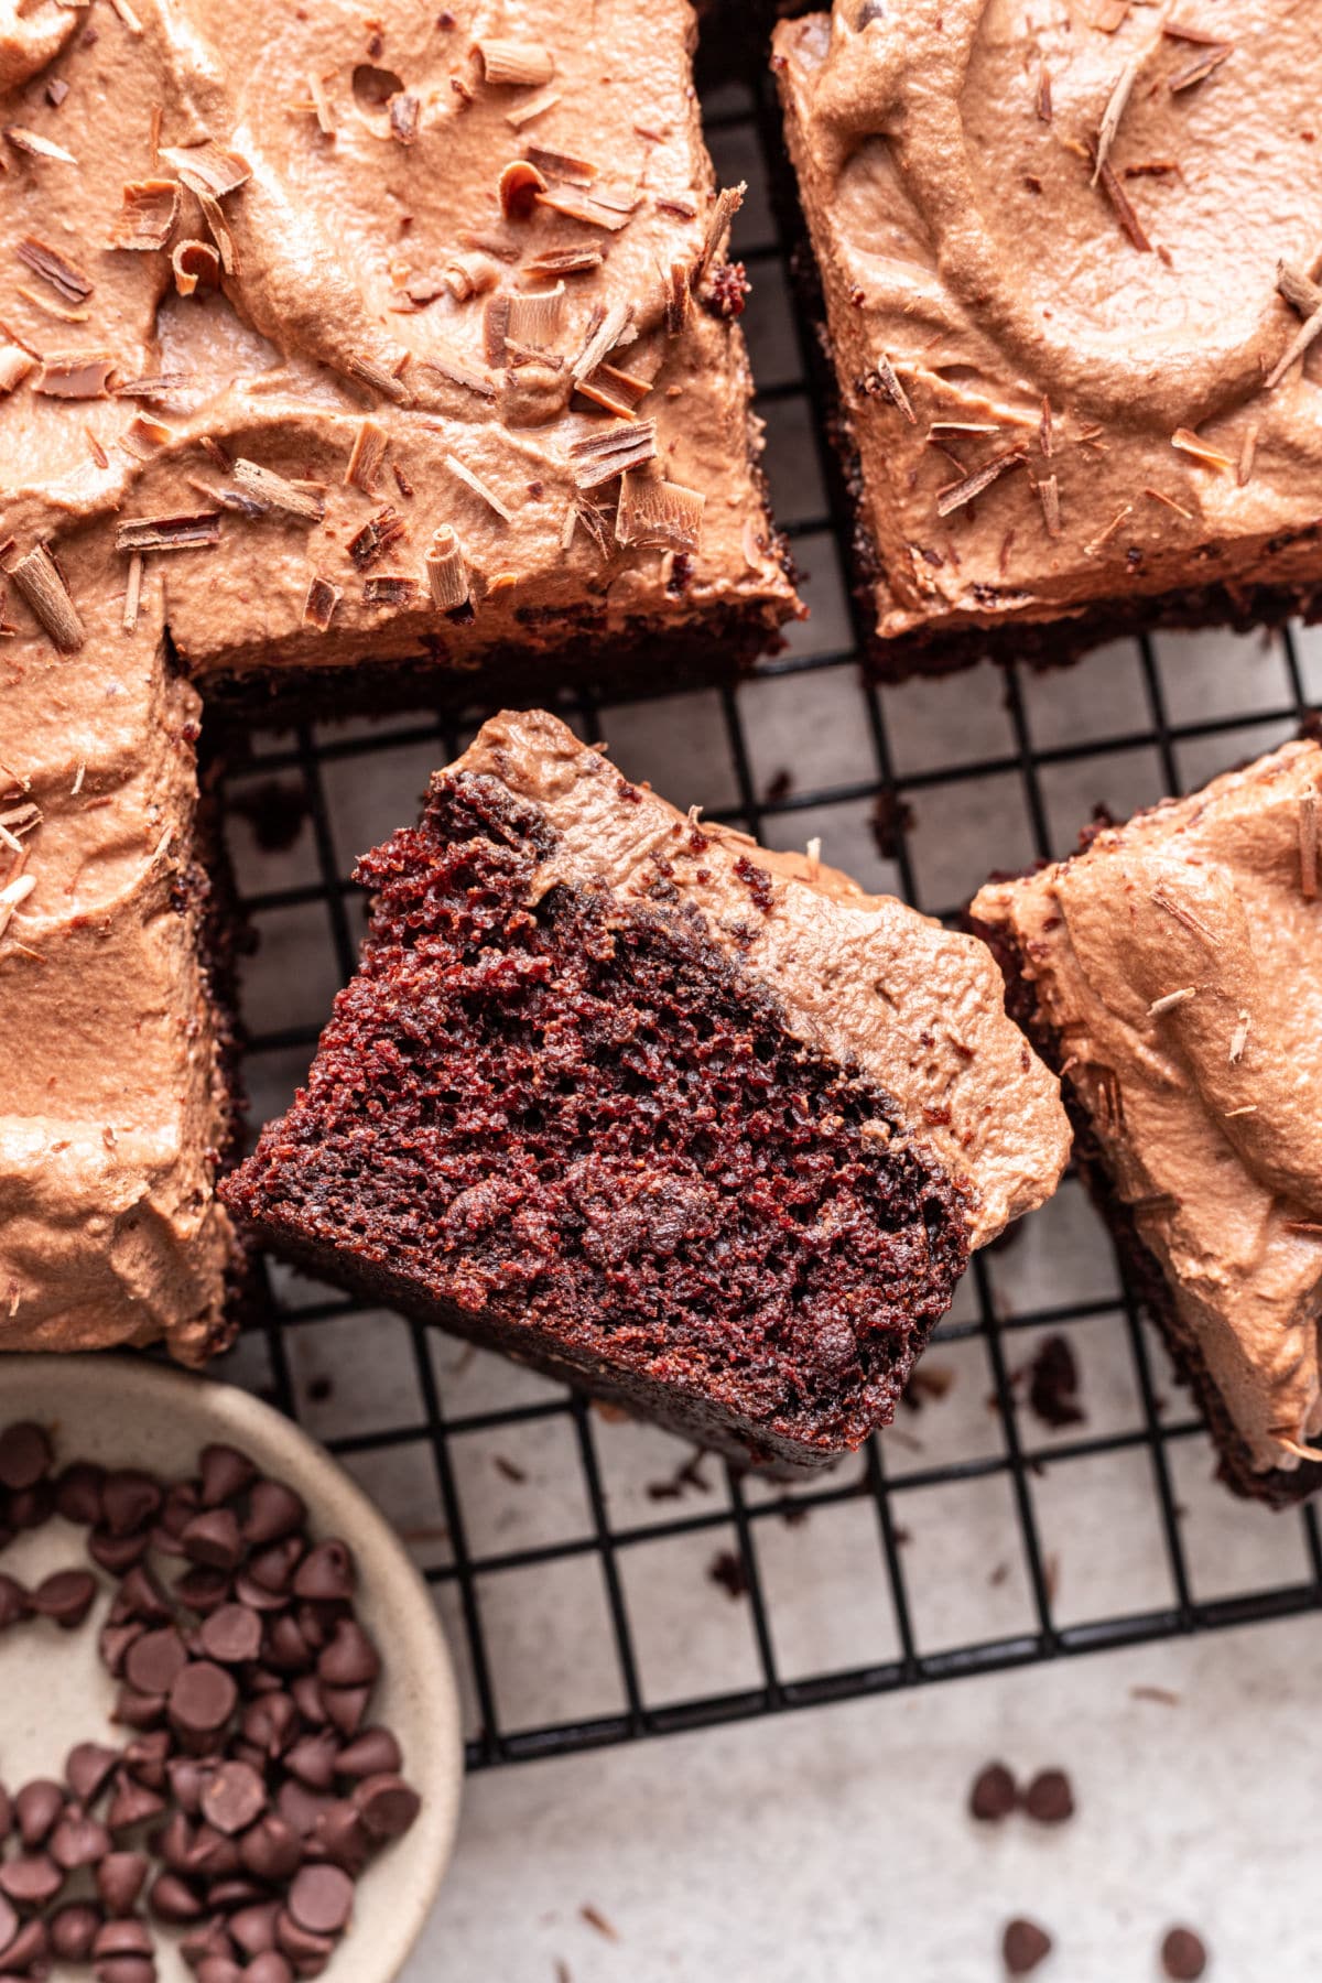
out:
M973 902L1225 1477L1276 1503L1322 1481L1320 793L1286 744Z

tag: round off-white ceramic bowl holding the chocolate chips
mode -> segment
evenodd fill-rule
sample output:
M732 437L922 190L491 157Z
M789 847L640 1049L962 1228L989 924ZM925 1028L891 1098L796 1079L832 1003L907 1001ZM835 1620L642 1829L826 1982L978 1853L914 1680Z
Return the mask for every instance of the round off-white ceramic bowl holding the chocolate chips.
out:
M357 1608L383 1654L373 1719L394 1729L404 1775L422 1810L359 1882L353 1925L331 1959L327 1983L390 1983L428 1916L454 1846L464 1747L454 1668L426 1584L363 1489L329 1454L268 1404L143 1356L0 1356L0 1426L32 1418L73 1458L107 1467L190 1473L212 1440L240 1446L264 1473L307 1501L313 1535L343 1537L359 1565ZM85 1531L52 1519L20 1535L0 1569L38 1582L54 1569L87 1567ZM87 1624L61 1632L32 1620L0 1642L0 1779L14 1791L32 1777L63 1775L75 1741L123 1743L109 1711L115 1684L97 1660L97 1626L109 1580ZM52 1971L85 1977L87 1971ZM161 1983L188 1969L159 1931Z

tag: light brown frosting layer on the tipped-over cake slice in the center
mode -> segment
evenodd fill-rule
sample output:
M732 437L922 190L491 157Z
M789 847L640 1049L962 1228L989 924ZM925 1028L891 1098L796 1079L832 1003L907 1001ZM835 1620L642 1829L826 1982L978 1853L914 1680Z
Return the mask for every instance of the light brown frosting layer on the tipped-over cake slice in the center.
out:
M492 718L450 769L496 777L547 817L537 898L567 882L698 912L795 1037L896 1103L904 1134L961 1186L971 1245L1052 1194L1070 1142L1058 1083L1007 1019L981 942L864 894L813 853L686 817L541 710Z

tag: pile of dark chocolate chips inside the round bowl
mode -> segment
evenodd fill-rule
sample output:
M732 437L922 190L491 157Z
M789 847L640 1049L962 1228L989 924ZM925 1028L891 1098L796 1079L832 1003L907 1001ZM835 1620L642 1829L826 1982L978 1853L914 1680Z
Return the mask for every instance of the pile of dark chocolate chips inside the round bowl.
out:
M381 1660L349 1549L313 1543L301 1497L232 1446L206 1446L190 1479L55 1473L46 1432L8 1426L0 1549L52 1515L117 1580L99 1650L131 1733L77 1743L61 1783L0 1787L0 1983L52 1961L153 1983L153 1920L182 1933L198 1983L319 1975L353 1882L418 1814L394 1735L369 1721ZM83 1569L36 1590L0 1575L0 1630L75 1630L97 1588Z

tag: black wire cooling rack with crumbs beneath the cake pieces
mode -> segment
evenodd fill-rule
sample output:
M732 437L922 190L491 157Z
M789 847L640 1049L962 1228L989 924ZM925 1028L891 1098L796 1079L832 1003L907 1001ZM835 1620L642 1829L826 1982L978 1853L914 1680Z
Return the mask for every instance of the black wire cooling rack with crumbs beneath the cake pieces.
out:
M656 775L670 797L771 843L821 833L828 857L936 914L991 867L1066 851L1094 799L1128 811L1288 734L1310 708L1310 637L1213 637L1211 658L1142 641L1056 676L862 684L823 359L765 190L775 101L763 81L723 83L706 109L721 178L751 188L735 252L755 284L773 494L815 617L737 690L575 694L563 714L606 736L632 775L680 738L698 789ZM480 716L266 732L230 759L240 890L262 938L246 1061L258 1116L287 1099L353 972L353 857L410 817L426 769ZM289 833L262 827L272 805ZM254 821L270 859L248 859ZM973 843L963 871L951 833ZM268 1295L232 1374L323 1436L410 1541L462 1666L472 1767L1322 1602L1312 1509L1272 1517L1209 1485L1203 1428L1076 1184L1009 1247L975 1255L922 1366L922 1412L795 1489L739 1479L283 1269ZM1086 1376L1086 1416L1062 1426L1025 1398L1025 1358L1050 1335Z

